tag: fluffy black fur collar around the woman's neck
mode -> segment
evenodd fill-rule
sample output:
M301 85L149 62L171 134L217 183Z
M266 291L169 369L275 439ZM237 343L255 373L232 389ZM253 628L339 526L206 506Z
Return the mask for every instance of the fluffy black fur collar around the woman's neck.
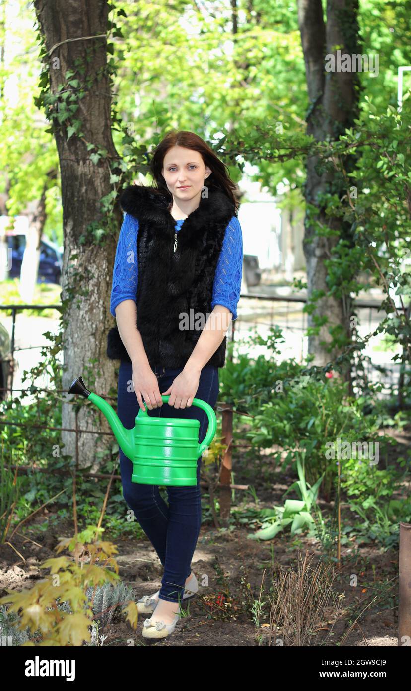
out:
M155 187L131 184L121 193L120 204L127 214L136 216L141 221L153 224L161 232L174 236L176 221L168 211L170 197ZM234 216L234 205L220 190L209 189L208 198L200 197L197 209L184 220L179 230L179 237L190 236L201 228L217 227L220 223L227 225Z

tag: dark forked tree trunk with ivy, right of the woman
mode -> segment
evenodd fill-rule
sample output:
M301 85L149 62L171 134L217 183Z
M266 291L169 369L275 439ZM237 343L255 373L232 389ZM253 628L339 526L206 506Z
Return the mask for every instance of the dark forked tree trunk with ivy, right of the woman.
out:
M345 129L354 125L354 118L357 117L357 73L325 72L325 55L335 55L336 48L341 50L341 56L344 53L359 53L357 13L358 0L328 0L325 25L321 0L299 0L298 3L299 29L310 100L310 109L306 117L307 133L317 141L338 140ZM343 163L347 171L352 170L353 158ZM314 294L318 294L318 291L325 294L328 292L328 271L324 261L330 258L332 248L339 238L350 238L350 224L341 218L326 216L318 198L319 194L328 192L336 193L341 199L347 193L348 184L341 177L341 173L336 174L334 169L317 170L318 164L317 156L308 157L305 200L318 209L312 220L332 229L335 234L319 236L312 227L309 213L306 211L303 248L309 300ZM319 298L314 313L308 316L308 326L317 325L318 319L327 318L328 321L320 326L318 334L310 335L308 338L308 352L314 355L314 365L324 366L341 353L341 347L335 347L329 352L329 344L332 341L329 329L340 325L342 334L350 339L351 313L350 294L345 294L342 299L326 295Z

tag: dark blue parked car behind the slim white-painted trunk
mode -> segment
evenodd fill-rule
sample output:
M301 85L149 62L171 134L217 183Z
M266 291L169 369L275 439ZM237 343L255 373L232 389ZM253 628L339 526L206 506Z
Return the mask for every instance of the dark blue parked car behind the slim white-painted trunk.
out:
M24 249L26 247L26 236L17 234L13 231L7 232L8 247L12 250L12 267L9 272L10 278L19 278L21 272L21 262L23 261ZM54 245L47 238L40 242L40 261L39 276L37 283L58 283L61 284L61 269L63 259L59 247Z

